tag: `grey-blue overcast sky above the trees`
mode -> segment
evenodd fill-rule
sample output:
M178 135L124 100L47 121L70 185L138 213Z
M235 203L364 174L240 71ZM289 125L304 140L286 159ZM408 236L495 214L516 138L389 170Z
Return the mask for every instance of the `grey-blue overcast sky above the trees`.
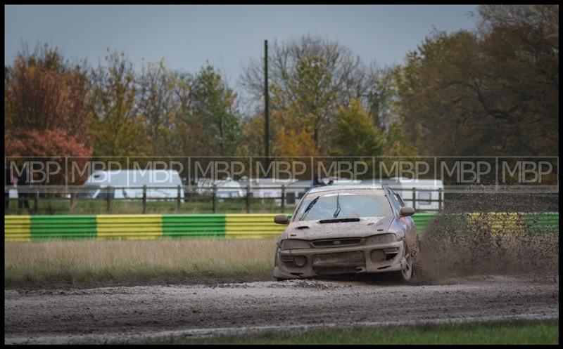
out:
M22 43L58 46L65 58L97 64L106 48L125 51L140 70L141 60L196 72L205 61L236 83L263 41L303 34L336 39L366 63L403 62L433 27L474 29L473 5L357 6L4 6L4 64Z

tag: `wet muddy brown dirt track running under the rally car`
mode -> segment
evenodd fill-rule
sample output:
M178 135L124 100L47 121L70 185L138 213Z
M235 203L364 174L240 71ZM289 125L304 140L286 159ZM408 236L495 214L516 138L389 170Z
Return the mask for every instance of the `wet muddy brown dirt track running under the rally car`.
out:
M4 343L107 343L268 328L558 318L558 276L6 290ZM205 330L203 330L205 329Z

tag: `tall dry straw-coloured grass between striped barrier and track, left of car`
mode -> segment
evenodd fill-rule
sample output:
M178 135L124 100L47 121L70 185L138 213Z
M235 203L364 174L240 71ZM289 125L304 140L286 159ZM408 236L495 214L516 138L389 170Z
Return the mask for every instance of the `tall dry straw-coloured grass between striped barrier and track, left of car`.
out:
M4 287L271 279L274 239L6 242Z

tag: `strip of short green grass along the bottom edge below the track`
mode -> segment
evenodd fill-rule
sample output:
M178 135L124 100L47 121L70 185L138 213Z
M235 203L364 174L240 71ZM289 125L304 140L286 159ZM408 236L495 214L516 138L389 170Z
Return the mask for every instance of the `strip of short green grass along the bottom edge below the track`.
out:
M512 320L466 324L422 324L189 338L175 336L143 344L558 344L559 320Z

